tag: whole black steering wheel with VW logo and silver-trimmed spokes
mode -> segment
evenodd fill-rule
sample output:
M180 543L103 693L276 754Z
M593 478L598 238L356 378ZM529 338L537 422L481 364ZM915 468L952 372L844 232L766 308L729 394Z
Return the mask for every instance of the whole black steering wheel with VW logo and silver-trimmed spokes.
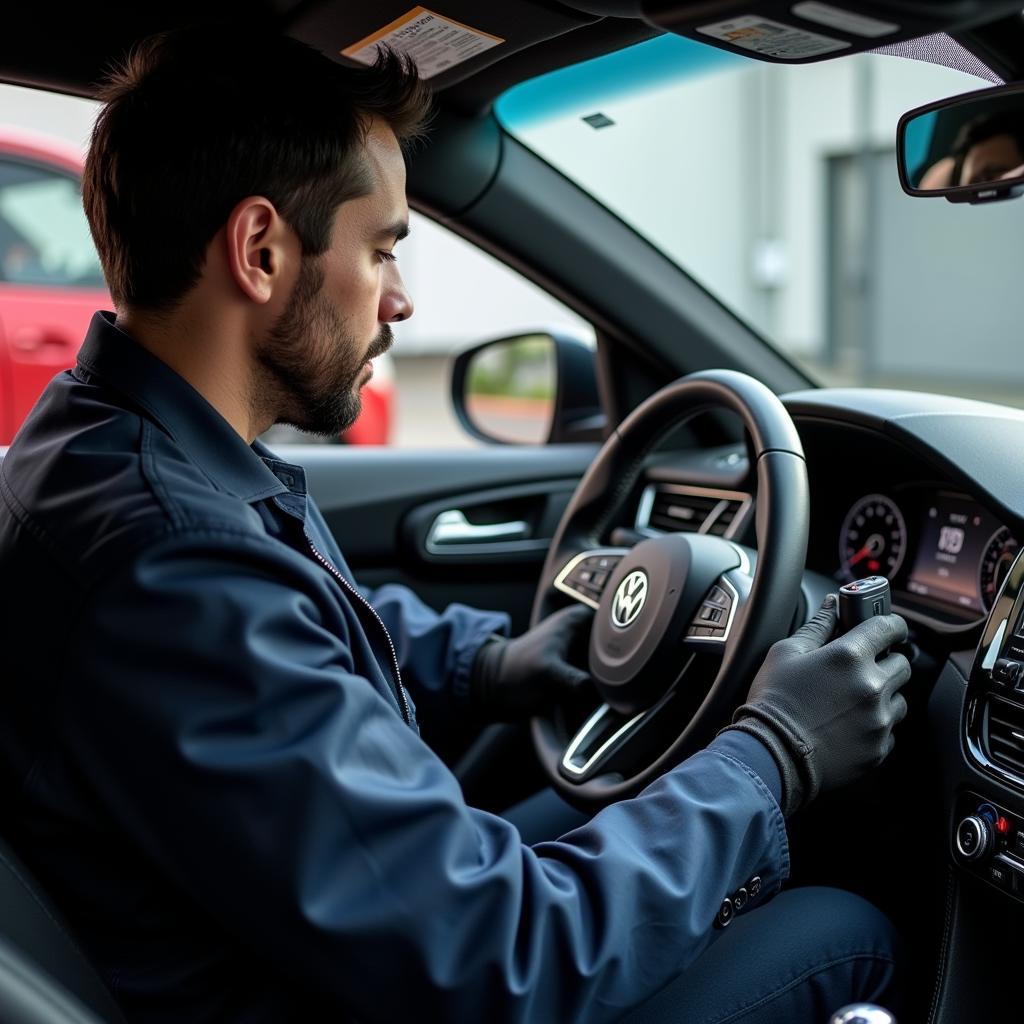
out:
M646 456L670 431L715 409L737 414L750 436L757 552L708 534L602 547ZM707 745L793 625L808 520L797 429L753 377L691 374L618 426L562 515L532 609L534 624L566 597L595 609L589 660L602 703L582 717L580 708L559 706L530 723L541 765L565 800L596 810Z

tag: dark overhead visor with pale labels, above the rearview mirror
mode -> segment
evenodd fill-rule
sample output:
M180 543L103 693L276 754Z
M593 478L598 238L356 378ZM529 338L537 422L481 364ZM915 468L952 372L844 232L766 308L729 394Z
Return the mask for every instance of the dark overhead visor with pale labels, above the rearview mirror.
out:
M586 0L580 6L594 13L602 3ZM609 0L607 6L624 4ZM1022 5L1021 0L639 0L630 6L651 25L742 56L811 63L955 33L1017 13Z

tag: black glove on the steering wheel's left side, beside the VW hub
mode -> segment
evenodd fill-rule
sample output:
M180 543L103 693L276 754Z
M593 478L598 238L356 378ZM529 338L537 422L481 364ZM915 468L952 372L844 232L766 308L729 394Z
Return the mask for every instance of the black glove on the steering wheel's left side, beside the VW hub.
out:
M562 608L514 640L492 637L476 653L469 680L471 702L490 718L522 718L566 696L590 676L567 660L588 635L594 612Z

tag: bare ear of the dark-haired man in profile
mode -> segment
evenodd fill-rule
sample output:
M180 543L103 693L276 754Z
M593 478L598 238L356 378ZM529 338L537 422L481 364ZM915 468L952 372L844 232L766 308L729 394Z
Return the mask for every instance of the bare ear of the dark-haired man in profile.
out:
M262 196L242 200L227 218L227 268L242 294L269 302L282 283L291 229L273 204Z

